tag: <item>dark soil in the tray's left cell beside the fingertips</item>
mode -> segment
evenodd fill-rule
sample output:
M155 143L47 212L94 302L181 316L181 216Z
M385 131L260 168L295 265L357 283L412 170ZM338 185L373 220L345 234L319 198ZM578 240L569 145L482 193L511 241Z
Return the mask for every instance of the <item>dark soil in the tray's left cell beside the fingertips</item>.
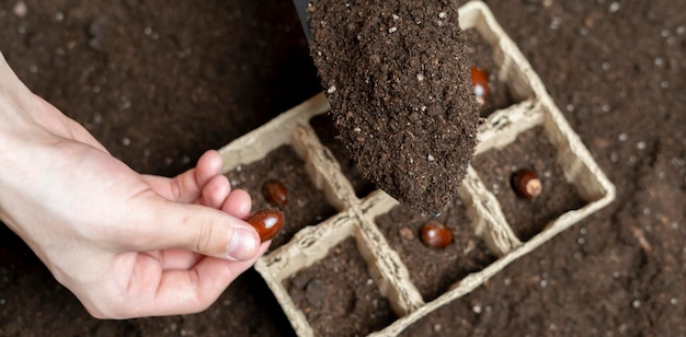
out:
M282 183L288 195L288 204L278 207L284 211L284 224L272 239L270 249L275 249L293 239L306 225L315 225L336 213L328 202L323 190L312 184L305 170L305 162L289 146L282 146L264 159L241 165L227 173L231 186L247 190L252 198L252 210L277 207L270 204L263 193L264 183Z

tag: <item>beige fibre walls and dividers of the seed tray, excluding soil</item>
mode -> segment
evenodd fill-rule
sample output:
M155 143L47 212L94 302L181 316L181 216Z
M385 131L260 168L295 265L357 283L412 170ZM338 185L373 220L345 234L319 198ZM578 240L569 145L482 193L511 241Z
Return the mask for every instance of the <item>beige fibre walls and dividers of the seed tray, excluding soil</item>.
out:
M412 283L408 268L375 223L376 217L387 213L398 202L381 190L357 197L335 156L322 146L309 124L313 116L330 109L323 94L319 94L220 149L225 160L224 172L228 172L261 160L283 144L291 146L304 160L313 184L325 193L329 202L339 211L321 223L304 226L288 243L267 253L255 264L255 269L274 292L299 336L313 336L315 332L289 297L284 280L324 258L332 247L345 239L355 239L373 282L399 317L370 335L395 336L435 309L471 292L516 258L615 198L613 184L594 162L547 94L538 75L500 27L488 7L481 1L470 1L459 9L459 14L464 30L477 31L491 44L493 59L499 66L498 78L508 85L515 102L519 102L494 112L480 126L480 143L476 155L506 147L519 133L540 126L557 149L556 159L563 168L567 182L576 188L587 204L564 212L550 221L540 233L522 242L506 221L498 198L481 181L480 175L487 173L470 166L459 190L459 198L471 221L465 230L471 230L481 237L496 259L425 302Z

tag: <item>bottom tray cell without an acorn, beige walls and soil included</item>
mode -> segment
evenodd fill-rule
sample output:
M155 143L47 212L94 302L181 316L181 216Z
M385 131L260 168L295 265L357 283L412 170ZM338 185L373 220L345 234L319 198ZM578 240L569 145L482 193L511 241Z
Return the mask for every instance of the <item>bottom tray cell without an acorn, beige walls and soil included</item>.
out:
M366 204L378 199L374 193ZM396 322L408 302L420 301L408 301L407 291L393 284L378 235L354 213L302 229L255 264L299 336L366 335Z

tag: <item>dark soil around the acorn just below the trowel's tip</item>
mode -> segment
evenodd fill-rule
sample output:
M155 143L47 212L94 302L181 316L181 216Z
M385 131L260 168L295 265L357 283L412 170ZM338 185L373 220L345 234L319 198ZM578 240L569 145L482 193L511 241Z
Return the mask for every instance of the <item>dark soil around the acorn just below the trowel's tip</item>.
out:
M495 260L485 243L473 234L466 210L462 201L457 199L438 218L422 216L401 205L376 218L376 224L408 267L410 279L424 302L442 295L465 276L480 271ZM444 248L422 243L422 226L432 220L453 232L453 243Z

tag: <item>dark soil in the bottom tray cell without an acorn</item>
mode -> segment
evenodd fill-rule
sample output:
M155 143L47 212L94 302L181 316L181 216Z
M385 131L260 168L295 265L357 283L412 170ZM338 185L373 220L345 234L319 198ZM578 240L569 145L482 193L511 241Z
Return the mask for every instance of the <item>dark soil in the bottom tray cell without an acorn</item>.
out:
M284 287L315 336L364 336L398 318L371 279L354 237L284 280Z

